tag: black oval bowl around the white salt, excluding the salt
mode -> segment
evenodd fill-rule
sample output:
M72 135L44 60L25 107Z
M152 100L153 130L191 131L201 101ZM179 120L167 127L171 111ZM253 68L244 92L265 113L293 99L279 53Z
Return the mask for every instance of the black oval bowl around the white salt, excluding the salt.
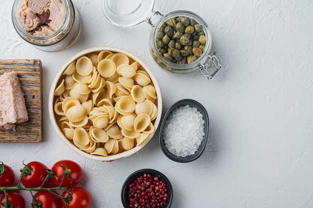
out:
M204 120L204 135L203 135L203 140L201 142L201 145L199 146L198 150L193 155L189 155L186 157L178 157L178 156L173 155L166 149L164 140L163 140L163 129L165 126L165 122L167 121L168 117L173 112L173 110L180 106L186 106L186 105L189 105L190 107L195 107L202 114L203 120ZM170 160L179 162L179 163L188 163L188 162L196 160L202 155L203 150L205 148L206 141L207 141L207 135L208 135L208 115L207 115L205 108L199 102L195 100L183 99L172 104L166 111L165 116L160 126L159 144L164 155Z

